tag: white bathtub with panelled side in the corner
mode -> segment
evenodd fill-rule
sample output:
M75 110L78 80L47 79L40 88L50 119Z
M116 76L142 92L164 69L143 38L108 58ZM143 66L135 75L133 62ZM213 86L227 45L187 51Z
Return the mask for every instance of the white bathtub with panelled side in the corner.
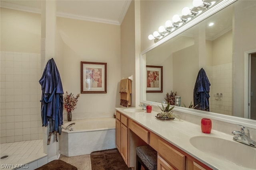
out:
M64 121L73 131L62 129L59 136L60 154L78 156L93 151L115 148L116 119L113 117Z

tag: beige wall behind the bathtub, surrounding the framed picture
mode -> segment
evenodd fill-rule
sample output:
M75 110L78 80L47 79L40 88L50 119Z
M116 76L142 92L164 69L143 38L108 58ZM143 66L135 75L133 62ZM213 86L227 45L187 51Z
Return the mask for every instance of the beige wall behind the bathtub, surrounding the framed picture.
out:
M62 84L64 91L80 93L80 62L107 63L107 93L81 94L73 115L112 116L119 106L117 89L120 70L120 26L91 21L57 18L64 41ZM66 116L64 117L66 119Z

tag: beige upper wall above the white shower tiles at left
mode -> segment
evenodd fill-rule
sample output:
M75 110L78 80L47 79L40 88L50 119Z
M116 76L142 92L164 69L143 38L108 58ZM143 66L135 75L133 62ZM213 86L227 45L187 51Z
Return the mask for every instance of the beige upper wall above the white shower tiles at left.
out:
M1 51L40 53L41 16L1 8Z

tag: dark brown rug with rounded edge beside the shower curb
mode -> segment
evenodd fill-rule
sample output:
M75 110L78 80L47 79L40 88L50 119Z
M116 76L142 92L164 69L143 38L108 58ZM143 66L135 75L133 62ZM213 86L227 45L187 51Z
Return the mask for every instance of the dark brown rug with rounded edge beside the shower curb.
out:
M40 166L36 170L77 170L76 166L68 164L63 160L53 160L47 164Z

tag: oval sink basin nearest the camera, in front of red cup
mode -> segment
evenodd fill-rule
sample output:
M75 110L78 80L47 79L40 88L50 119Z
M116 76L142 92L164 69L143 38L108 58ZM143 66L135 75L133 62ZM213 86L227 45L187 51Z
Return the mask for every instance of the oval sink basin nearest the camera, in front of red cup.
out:
M256 168L256 149L235 141L217 137L197 136L190 143L198 150L215 158L228 160L237 166Z

